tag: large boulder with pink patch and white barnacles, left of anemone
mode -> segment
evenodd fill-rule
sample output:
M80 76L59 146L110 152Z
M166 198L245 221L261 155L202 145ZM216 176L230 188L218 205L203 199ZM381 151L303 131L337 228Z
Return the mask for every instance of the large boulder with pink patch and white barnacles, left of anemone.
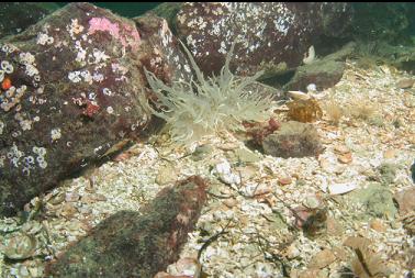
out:
M141 135L143 64L167 81L186 73L168 64L180 58L162 51L171 33L158 22L143 32L162 42L158 56L133 21L89 3L0 41L0 215Z

